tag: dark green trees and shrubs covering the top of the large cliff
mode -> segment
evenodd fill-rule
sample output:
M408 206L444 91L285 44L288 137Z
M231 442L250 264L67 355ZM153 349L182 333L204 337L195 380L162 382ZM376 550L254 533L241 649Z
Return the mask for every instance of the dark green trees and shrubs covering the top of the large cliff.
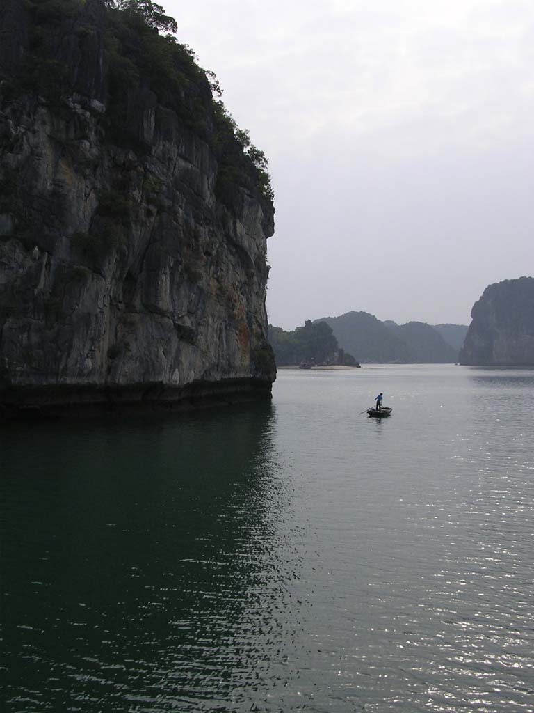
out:
M215 74L201 68L192 48L178 41L177 22L162 6L151 0L24 0L23 11L30 17L28 51L20 71L7 76L0 67L4 100L38 93L60 103L62 96L86 93L88 75L95 73L80 59L92 55L95 60L98 53L105 66L101 85L91 89L107 108L105 123L115 143L147 150L131 121L132 110L157 102L213 150L223 202L231 203L234 185L272 202L265 154L226 111ZM73 54L78 58L74 66Z

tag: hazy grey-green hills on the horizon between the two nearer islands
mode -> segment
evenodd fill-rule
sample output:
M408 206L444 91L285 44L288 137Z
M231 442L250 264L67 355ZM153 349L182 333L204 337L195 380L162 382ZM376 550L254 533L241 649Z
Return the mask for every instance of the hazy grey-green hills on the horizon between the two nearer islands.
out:
M455 364L457 344L462 332L467 332L459 324L432 327L424 322L381 322L368 312L347 312L315 322L326 322L340 347L367 364Z

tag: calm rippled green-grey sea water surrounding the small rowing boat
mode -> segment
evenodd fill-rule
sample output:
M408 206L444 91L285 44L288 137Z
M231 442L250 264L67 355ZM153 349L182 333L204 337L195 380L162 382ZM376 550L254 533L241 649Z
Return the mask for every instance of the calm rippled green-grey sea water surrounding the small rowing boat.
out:
M533 711L533 415L532 370L366 366L3 426L2 710Z

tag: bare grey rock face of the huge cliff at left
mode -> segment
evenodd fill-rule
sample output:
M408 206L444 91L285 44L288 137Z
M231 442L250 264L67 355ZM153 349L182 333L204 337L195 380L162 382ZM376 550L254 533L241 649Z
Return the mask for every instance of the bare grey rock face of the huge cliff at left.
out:
M210 116L181 116L179 100L208 106L207 82L169 108L141 77L112 112L108 10L89 0L54 29L61 96L28 91L21 8L0 16L0 403L270 394L273 205L236 142L214 148Z

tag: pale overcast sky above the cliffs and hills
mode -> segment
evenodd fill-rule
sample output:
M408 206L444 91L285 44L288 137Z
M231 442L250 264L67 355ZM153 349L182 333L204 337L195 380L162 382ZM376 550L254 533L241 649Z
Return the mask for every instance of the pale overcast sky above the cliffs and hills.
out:
M468 324L533 275L533 0L163 4L270 160L272 324Z

